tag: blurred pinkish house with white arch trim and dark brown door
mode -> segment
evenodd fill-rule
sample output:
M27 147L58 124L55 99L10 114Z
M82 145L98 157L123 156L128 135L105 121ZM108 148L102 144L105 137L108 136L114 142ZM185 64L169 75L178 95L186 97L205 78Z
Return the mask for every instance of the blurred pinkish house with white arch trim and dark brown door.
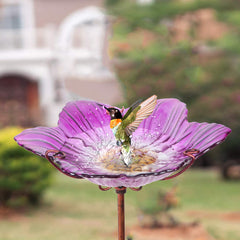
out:
M122 101L103 0L0 1L0 127L56 125L67 101Z

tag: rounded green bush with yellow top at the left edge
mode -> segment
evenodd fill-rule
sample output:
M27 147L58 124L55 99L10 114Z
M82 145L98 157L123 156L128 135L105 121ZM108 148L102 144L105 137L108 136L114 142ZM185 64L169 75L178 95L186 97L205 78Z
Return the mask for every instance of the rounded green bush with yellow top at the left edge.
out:
M21 131L16 127L0 130L0 205L37 204L51 182L48 161L14 141Z

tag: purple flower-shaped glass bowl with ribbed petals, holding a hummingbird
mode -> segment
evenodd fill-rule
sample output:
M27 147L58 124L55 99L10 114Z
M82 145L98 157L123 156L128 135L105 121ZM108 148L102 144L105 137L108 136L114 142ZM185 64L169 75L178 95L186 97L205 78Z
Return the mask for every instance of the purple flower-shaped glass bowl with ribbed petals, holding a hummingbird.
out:
M184 103L160 99L133 132L132 161L126 165L104 106L109 107L70 102L60 113L58 127L27 129L15 140L68 176L102 186L139 187L179 175L231 132L216 123L188 122Z

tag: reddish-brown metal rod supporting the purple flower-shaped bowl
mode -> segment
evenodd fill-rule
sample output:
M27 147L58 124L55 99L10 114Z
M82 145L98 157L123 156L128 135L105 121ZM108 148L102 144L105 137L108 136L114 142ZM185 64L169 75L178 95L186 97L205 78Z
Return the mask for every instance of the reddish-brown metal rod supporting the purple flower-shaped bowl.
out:
M118 240L125 239L125 213L124 213L124 194L126 193L125 187L116 187L118 195Z

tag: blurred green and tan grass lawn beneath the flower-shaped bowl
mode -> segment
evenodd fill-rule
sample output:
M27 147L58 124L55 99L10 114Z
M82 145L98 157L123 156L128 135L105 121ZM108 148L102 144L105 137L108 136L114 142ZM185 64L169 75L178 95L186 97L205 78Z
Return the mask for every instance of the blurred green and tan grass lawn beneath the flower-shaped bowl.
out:
M180 202L172 213L180 221L200 221L217 240L240 239L240 182L222 181L209 170L190 170L176 179L144 186L140 192L127 190L127 229L138 224L138 206L176 184ZM0 240L116 239L116 201L114 190L102 192L86 180L56 174L42 207L0 218ZM232 215L235 218L229 219Z

